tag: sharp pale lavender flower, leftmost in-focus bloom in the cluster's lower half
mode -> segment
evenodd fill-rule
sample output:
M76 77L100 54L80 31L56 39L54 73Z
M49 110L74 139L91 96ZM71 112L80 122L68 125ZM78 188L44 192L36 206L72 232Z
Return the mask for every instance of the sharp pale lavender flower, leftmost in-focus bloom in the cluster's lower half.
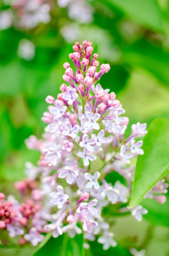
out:
M54 191L50 193L51 197L54 199L51 200L52 204L56 204L58 209L61 209L63 207L63 204L67 202L67 199L69 198L69 195L64 194L63 187L61 185L57 186L57 191Z

